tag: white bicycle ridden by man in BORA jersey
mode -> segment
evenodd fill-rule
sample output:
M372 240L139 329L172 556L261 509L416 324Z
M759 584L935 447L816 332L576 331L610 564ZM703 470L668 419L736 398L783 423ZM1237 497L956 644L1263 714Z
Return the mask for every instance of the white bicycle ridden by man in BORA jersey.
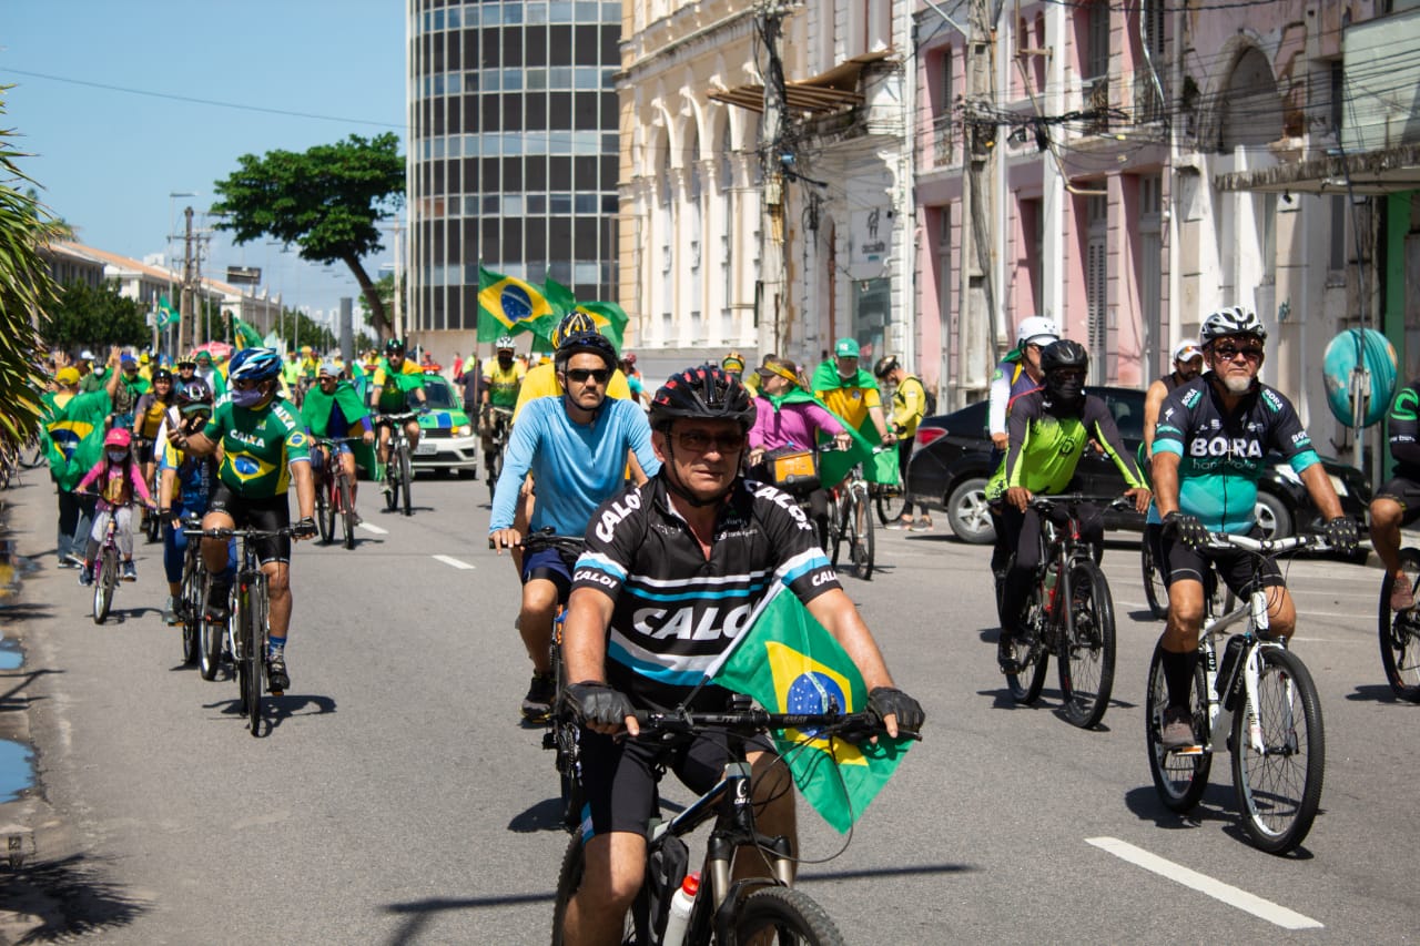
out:
M1227 732L1233 790L1242 827L1260 849L1285 854L1306 838L1321 805L1326 737L1312 675L1284 639L1268 634L1262 565L1284 553L1306 547L1329 551L1329 545L1318 535L1258 540L1210 533L1208 547L1251 553L1252 575L1245 599L1221 616L1214 616L1211 598L1204 598L1198 666L1191 687L1196 746L1164 749L1159 743L1169 689L1163 676L1163 649L1154 646L1145 693L1149 768L1164 807L1186 812L1207 788L1214 736ZM1227 639L1220 662L1214 641L1240 622L1245 626Z

